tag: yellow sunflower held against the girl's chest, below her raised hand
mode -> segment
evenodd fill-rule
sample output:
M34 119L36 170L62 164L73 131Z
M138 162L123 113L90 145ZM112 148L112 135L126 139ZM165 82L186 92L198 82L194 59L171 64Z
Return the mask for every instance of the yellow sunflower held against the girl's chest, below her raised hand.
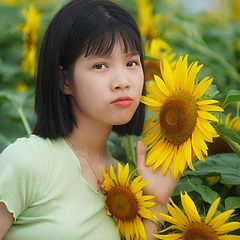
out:
M142 218L154 220L154 215L148 209L155 205L154 197L143 195L143 187L147 183L141 176L131 181L129 165L123 168L118 164L116 175L112 165L109 172L103 170L103 191L105 193L106 211L117 223L120 234L126 240L146 239L146 231Z

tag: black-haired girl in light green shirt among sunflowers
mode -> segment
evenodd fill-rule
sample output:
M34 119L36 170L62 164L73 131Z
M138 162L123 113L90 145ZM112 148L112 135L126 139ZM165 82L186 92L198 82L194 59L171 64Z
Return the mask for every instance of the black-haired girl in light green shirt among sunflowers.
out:
M120 239L105 213L102 168L116 165L106 149L111 131L140 135L143 53L133 18L107 0L73 0L51 21L40 51L33 134L0 157L0 239ZM176 182L144 165L155 210ZM163 187L159 187L159 184ZM145 222L148 239L157 227Z

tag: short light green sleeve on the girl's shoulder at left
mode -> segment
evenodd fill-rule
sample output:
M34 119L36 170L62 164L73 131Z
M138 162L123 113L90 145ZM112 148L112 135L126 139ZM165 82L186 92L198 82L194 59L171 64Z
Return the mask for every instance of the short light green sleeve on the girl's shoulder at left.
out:
M38 158L36 147L27 138L10 144L0 155L0 202L15 220L38 196Z

